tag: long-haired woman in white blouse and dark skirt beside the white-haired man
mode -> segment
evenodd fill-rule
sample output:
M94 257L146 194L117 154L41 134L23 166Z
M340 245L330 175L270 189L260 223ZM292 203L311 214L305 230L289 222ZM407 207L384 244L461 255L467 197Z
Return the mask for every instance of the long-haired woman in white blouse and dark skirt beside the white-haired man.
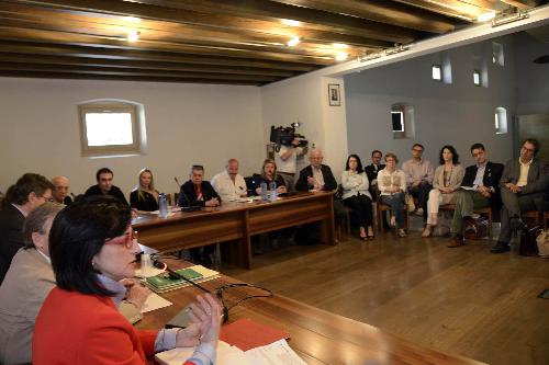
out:
M359 221L360 238L373 239L372 196L368 191L368 176L357 155L350 155L341 174L343 204L351 208Z

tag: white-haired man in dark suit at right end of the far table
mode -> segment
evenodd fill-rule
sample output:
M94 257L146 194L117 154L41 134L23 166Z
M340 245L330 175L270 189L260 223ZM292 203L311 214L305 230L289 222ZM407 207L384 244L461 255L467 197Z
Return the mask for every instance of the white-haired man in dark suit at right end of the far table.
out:
M295 190L299 192L314 191L333 191L337 189L337 181L332 173L332 169L323 164L324 156L320 149L313 149L309 153L310 166L300 171L300 178L295 183ZM336 223L341 223L345 219L346 210L341 202L334 199L334 216ZM318 224L310 224L302 227L298 231L296 240L305 244L318 243L316 232Z

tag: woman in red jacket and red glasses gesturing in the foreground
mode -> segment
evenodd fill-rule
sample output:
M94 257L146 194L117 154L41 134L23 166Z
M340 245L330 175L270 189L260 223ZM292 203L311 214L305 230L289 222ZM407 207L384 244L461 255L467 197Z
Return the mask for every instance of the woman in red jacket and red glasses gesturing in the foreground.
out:
M144 365L155 352L197 346L184 364L215 362L221 310L210 295L191 306L186 329L136 330L116 310L125 295L119 283L133 277L131 210L111 197L77 202L52 226L49 253L57 287L36 319L33 364Z

